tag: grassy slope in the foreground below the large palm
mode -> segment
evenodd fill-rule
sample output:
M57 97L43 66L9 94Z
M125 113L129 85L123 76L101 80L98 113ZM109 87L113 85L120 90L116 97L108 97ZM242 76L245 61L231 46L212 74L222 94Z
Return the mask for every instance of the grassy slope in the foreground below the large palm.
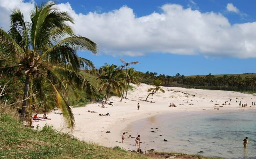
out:
M36 127L36 122L34 124ZM0 115L0 159L5 158L34 158L34 159L147 159L167 158L179 154L179 159L203 159L200 155L186 155L182 153L148 153L141 155L128 152L119 146L107 148L97 144L79 141L69 134L61 134L52 126L42 129L23 127L10 115ZM206 158L207 159L207 158Z

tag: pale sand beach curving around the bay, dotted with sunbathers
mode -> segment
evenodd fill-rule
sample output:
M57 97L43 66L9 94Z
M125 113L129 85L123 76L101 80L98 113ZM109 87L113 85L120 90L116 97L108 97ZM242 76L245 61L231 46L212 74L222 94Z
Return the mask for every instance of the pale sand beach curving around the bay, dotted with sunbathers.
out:
M121 98L111 97L107 102L112 101L114 105L105 104L106 108L99 107L98 105L101 106L101 103L92 103L85 107L73 108L76 127L72 134L78 139L87 142L98 143L107 147L119 145L131 150L134 147L130 144L120 143L121 135L129 123L138 119L171 112L204 111L207 113L208 110L214 110L214 108L219 108L219 110L215 109L215 111L256 108L256 106L252 106L252 102L256 101L255 94L177 87L162 87L165 93L157 92L148 98L148 101L155 103L146 102L145 99L149 93L147 89L152 87L147 84L141 84L139 87L134 86L134 90L128 91L127 99L123 99L120 102ZM230 98L232 101L230 101ZM222 105L225 101L226 105ZM242 104L248 103L248 106L239 108L240 101ZM169 107L172 102L177 107ZM137 109L138 103L140 104L139 110ZM229 103L230 105L228 105ZM224 107L219 107L216 104ZM87 112L88 110L96 111L97 113ZM109 113L110 116L99 116L100 113ZM39 114L39 116L41 117L43 114ZM62 115L52 112L48 113L47 116L51 120L33 122L34 126L36 127L39 124L40 127L43 127L45 124L51 124L56 129L65 131ZM111 133L106 133L106 131Z

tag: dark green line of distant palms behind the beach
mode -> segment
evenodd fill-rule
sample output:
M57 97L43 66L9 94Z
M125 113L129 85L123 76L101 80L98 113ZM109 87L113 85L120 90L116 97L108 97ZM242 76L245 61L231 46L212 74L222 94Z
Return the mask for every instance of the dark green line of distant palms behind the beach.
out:
M141 72L141 81L143 83L151 83L155 79L163 81L163 86L168 87L184 87L197 89L214 89L229 91L256 91L256 75L255 74L238 75L212 75L209 73L205 76L185 76L177 73L175 76L165 74L157 74L156 72Z

